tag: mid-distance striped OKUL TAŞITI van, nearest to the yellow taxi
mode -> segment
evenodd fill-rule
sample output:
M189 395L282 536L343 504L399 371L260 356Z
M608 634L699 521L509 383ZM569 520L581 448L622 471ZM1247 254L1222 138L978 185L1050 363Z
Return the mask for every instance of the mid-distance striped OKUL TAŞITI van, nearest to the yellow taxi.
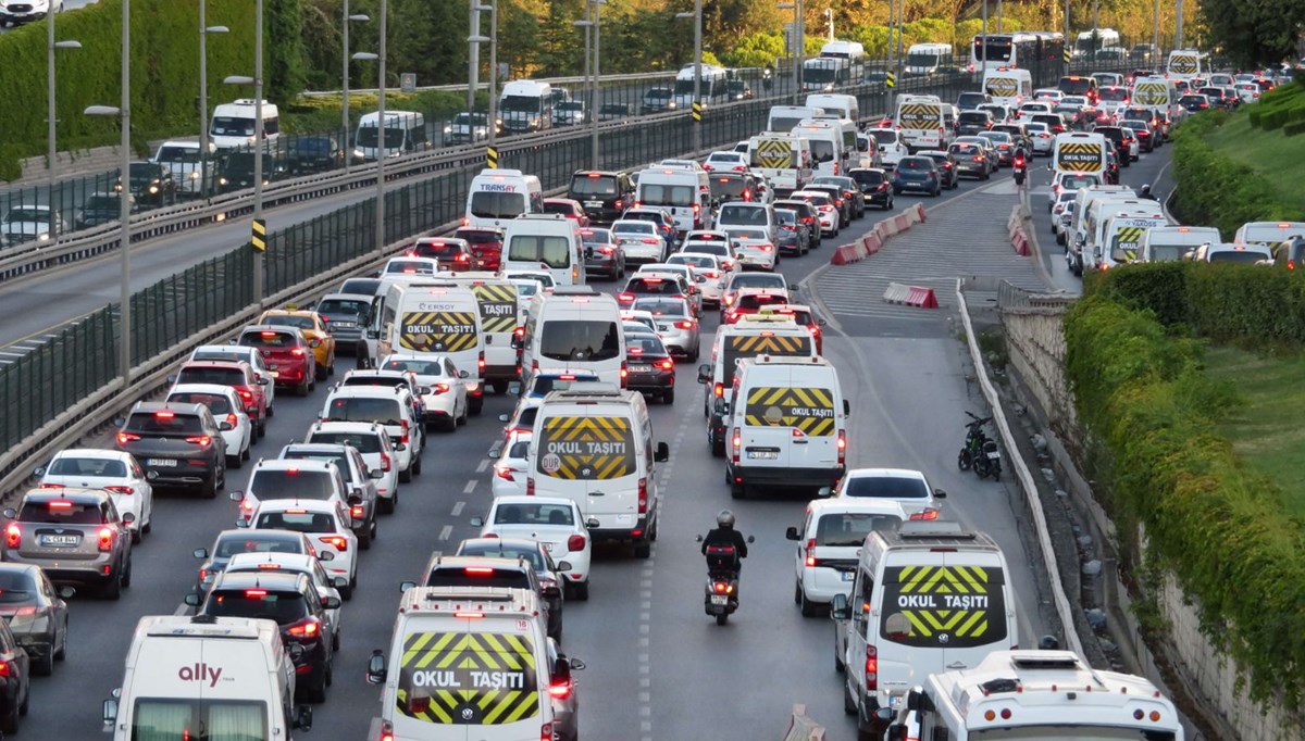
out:
M484 404L485 344L480 304L471 288L454 280L432 278L390 283L372 304L368 339L376 339L371 367L393 354L445 356L461 372L467 387L467 406L479 414ZM510 342L509 342L510 344Z

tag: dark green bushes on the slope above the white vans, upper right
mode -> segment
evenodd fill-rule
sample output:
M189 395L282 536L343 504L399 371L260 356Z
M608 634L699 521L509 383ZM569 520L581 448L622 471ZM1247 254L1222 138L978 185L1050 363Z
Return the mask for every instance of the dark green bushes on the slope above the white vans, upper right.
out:
M1305 220L1267 177L1210 146L1206 134L1227 120L1225 111L1199 113L1174 132L1173 209L1182 222L1218 227L1231 241L1246 222Z

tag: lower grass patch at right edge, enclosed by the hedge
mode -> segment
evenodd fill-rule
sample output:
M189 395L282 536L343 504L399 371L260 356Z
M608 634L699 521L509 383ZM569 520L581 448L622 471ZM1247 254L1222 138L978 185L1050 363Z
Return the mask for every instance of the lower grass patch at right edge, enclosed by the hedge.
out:
M1224 416L1219 431L1246 467L1268 477L1283 506L1305 519L1305 352L1261 355L1211 346L1206 368L1241 394L1244 404Z

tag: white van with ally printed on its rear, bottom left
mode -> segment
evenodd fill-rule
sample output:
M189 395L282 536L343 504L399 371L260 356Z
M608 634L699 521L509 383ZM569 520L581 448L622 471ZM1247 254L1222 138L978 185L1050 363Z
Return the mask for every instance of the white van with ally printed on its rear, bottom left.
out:
M312 728L292 707L295 664L274 620L146 616L136 624L123 685L104 701L114 741L260 738Z

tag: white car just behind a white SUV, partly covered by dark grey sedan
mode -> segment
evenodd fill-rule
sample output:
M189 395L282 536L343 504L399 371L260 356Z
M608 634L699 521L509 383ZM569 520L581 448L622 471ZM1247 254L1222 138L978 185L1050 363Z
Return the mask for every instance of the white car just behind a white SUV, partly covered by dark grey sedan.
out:
M266 500L258 504L248 527L303 532L318 556L334 554L322 565L333 581L334 577L345 577L346 582L337 586L339 596L346 600L354 597L354 588L358 587L358 536L351 530L348 505L335 500Z

